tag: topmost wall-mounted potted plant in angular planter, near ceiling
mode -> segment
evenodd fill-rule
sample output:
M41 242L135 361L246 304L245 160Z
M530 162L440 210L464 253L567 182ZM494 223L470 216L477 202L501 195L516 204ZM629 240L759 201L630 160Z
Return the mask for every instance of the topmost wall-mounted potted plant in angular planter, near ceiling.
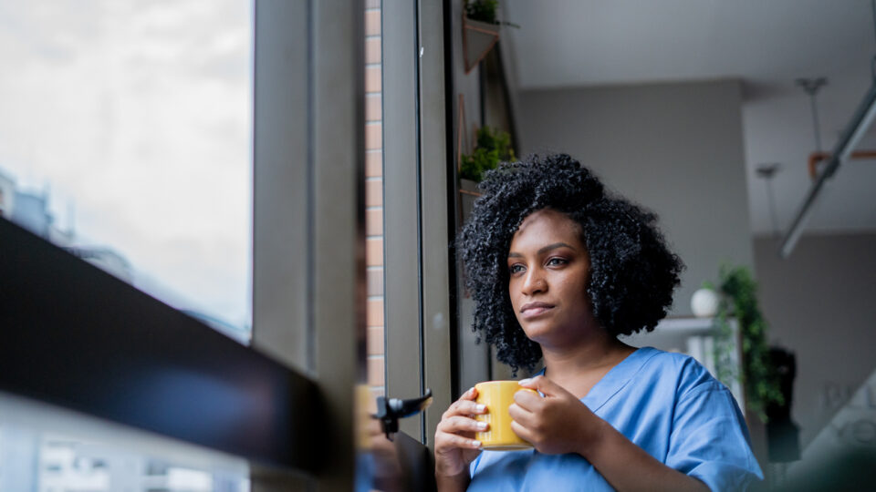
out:
M514 26L498 19L498 0L465 0L463 7L463 59L465 73L472 71L499 40L501 26Z

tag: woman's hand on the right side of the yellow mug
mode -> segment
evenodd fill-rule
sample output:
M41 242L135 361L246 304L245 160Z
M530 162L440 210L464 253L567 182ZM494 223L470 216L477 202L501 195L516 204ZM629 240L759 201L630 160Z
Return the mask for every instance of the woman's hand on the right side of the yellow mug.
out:
M597 442L604 421L575 395L541 375L525 379L520 385L545 395L542 398L528 391L518 391L514 404L508 408L514 419L512 430L532 443L539 453L584 456L584 449Z

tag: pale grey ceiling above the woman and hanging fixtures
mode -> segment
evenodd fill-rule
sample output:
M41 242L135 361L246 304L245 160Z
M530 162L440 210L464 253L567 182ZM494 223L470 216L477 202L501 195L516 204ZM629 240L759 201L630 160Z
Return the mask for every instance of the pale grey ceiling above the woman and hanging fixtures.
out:
M876 28L865 0L506 0L504 30L521 90L738 78L743 82L749 213L756 234L786 231L811 185L815 150L799 77L819 91L831 149L871 84ZM876 125L859 149L876 149ZM756 167L778 163L771 182ZM876 231L876 160L829 181L807 232ZM775 219L770 212L770 191Z

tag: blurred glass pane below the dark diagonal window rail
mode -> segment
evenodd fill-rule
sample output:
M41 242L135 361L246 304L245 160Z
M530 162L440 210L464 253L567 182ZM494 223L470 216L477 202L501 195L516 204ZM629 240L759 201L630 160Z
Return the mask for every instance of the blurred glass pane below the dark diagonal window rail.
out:
M247 492L245 460L0 394L0 490Z

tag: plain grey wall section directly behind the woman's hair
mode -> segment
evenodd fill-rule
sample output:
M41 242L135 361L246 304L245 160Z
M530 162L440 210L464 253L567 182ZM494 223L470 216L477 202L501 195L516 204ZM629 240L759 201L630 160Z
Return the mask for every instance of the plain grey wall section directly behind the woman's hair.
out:
M656 211L687 264L672 315L722 262L752 265L737 81L523 91L523 154L563 151Z

